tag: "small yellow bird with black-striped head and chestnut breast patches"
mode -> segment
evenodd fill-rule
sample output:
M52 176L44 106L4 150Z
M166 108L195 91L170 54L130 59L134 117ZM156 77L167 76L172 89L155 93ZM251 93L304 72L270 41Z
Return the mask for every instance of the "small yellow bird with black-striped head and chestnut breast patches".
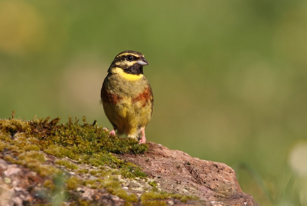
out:
M153 91L143 73L148 64L136 51L121 52L111 63L101 89L104 114L113 126L110 135L146 143L145 128L153 116Z

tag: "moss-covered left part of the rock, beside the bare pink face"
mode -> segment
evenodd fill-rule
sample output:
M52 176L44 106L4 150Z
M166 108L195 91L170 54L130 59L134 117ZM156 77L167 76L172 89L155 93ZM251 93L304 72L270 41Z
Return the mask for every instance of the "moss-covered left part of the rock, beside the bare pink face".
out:
M64 124L59 120L0 119L0 174L6 178L0 189L13 184L22 188L1 193L0 199L10 197L4 203L17 204L20 193L29 205L153 205L168 198L182 203L191 199L161 192L140 167L116 157L143 154L147 144L110 136L85 117L81 124L71 117Z

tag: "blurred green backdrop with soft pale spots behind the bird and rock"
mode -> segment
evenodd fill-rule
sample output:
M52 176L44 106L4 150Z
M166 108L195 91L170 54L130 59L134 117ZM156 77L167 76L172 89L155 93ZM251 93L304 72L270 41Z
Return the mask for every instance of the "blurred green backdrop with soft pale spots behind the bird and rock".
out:
M143 53L148 141L236 170L260 205L307 205L307 1L0 0L0 118L87 117Z

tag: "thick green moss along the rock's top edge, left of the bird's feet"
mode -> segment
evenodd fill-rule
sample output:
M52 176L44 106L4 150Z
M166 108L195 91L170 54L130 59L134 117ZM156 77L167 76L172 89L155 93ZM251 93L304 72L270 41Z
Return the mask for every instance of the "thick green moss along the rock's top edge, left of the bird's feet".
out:
M112 153L143 153L148 145L139 145L133 139L109 138L109 134L97 125L83 124L70 117L65 124L59 124L60 118L0 119L0 149L8 148L18 154L25 151L43 150L56 157L68 157L93 166L107 165L118 168L124 177L146 177L137 166L116 158ZM29 158L24 158L30 161ZM18 163L18 161L15 161ZM19 162L21 163L21 162ZM23 165L27 165L25 162ZM61 164L64 164L62 162ZM64 165L77 169L72 165Z

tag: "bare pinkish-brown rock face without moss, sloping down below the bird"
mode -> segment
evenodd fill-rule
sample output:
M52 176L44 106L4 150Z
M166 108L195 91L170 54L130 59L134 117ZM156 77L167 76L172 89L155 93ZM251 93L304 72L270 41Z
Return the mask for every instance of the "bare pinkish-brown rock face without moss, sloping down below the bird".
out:
M208 205L257 205L251 195L242 192L234 170L228 165L193 158L182 151L154 143L148 144L150 147L145 155L117 156L143 168L143 172L160 184L161 190L194 195Z

